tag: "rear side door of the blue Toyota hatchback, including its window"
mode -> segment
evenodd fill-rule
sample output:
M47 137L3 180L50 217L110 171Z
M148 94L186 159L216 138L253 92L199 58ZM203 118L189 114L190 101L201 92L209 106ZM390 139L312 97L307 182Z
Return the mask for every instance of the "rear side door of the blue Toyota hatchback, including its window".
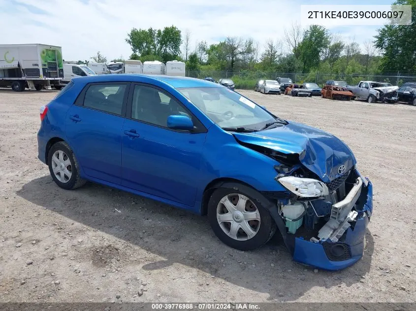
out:
M121 184L128 87L129 83L89 84L66 114L67 139L89 177Z

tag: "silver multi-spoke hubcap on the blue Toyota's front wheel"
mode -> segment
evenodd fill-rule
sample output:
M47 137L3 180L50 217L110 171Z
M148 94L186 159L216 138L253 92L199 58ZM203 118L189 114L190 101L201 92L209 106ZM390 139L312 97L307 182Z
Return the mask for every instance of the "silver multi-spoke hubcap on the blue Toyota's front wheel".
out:
M217 221L230 238L246 241L257 234L260 213L250 198L241 194L229 194L217 205Z

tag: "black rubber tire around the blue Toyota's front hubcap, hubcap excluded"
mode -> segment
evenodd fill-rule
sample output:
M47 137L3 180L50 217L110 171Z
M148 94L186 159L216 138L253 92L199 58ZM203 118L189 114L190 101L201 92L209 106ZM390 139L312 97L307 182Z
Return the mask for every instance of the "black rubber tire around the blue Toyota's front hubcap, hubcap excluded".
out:
M238 184L236 184L238 186ZM234 187L235 188L235 187ZM238 188L238 187L237 187ZM260 227L254 237L249 240L241 241L229 237L218 224L217 206L222 198L229 194L242 194L256 202L257 211L260 214ZM208 202L208 220L215 235L226 245L241 251L251 251L266 244L276 232L276 223L270 213L260 202L251 198L247 194L232 188L218 188L214 191Z

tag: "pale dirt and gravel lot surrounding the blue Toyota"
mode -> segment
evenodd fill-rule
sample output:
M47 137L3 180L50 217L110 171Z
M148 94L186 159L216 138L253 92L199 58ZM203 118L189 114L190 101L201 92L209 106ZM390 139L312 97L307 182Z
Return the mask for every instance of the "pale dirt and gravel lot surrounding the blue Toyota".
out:
M65 191L37 159L56 91L1 89L0 302L414 302L416 107L243 93L352 148L375 191L359 262L314 271L278 238L240 252L206 217L92 183Z

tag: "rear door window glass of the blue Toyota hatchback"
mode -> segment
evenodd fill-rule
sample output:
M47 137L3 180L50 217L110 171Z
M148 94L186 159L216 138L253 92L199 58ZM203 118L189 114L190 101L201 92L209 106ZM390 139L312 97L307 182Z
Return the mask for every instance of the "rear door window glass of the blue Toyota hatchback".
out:
M90 85L85 93L84 107L121 115L126 87L126 84Z

